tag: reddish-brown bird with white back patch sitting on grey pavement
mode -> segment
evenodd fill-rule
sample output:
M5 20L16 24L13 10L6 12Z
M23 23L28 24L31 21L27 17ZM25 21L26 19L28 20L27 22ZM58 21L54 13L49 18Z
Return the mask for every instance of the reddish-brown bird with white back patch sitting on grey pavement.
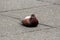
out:
M36 27L39 24L39 22L38 22L38 19L35 16L35 14L31 14L31 16L26 16L22 20L22 24L24 26Z

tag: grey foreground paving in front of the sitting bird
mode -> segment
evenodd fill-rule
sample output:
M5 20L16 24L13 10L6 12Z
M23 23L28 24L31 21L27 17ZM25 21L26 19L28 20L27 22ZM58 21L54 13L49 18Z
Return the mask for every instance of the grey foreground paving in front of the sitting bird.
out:
M16 19L0 16L0 40L59 40L60 28L38 25L23 27Z

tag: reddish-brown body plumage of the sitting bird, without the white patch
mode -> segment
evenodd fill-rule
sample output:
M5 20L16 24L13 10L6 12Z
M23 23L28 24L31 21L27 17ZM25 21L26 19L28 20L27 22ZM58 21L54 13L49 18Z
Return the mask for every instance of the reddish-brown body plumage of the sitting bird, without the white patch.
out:
M37 18L33 15L31 18L29 18L29 19L24 19L23 21L22 21L22 23L24 24L24 25L31 25L31 26L36 26L36 25L38 25L38 20L37 20Z

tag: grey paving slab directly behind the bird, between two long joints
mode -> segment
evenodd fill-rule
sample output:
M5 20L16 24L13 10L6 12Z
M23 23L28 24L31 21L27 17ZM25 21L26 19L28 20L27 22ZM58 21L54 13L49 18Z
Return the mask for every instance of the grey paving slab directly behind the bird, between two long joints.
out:
M60 6L58 5L43 5L40 7L35 7L30 9L8 11L5 13L2 12L0 14L18 20L22 20L25 16L34 13L36 14L40 23L58 27L60 26L59 10L60 10Z

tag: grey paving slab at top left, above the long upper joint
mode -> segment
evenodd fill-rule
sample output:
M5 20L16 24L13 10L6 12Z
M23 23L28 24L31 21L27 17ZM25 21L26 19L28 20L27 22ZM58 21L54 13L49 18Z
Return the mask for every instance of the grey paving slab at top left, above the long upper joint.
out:
M49 4L37 0L0 0L0 11L15 10Z

